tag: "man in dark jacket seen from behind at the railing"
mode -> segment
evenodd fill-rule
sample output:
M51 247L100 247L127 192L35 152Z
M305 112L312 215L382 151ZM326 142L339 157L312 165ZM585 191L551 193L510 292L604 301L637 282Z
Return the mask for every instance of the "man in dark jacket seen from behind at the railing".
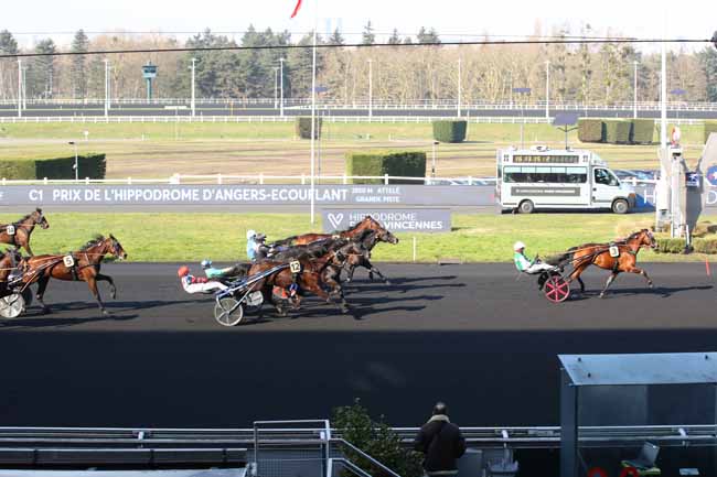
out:
M420 429L414 449L424 453L424 470L429 476L458 474L456 459L465 452L465 440L460 429L448 419L448 408L438 402L434 415Z

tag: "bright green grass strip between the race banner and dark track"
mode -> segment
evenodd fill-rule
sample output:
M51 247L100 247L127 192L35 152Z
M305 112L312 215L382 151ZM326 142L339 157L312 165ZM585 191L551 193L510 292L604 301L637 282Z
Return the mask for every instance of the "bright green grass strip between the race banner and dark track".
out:
M0 223L18 215L0 215ZM653 214L456 214L448 234L398 234L396 246L382 243L373 254L376 261L413 261L416 238L417 261L458 259L463 262L509 262L516 240L527 245L528 256L549 256L590 241L610 241L649 227ZM35 253L63 253L75 250L95 234L114 234L129 253L141 262L239 261L245 258L247 229L267 234L268 240L321 230L311 226L306 214L47 214L50 228L32 236ZM704 225L717 216L703 218ZM703 225L703 228L704 228ZM698 261L706 256L640 253L641 261ZM717 256L708 256L717 260Z

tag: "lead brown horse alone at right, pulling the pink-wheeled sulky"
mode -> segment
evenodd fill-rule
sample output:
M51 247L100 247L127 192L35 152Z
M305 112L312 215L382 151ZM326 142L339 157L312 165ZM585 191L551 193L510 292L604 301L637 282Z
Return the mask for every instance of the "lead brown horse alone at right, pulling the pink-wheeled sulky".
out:
M619 251L618 257L612 257L610 253L611 247L617 247ZM613 243L586 243L574 247L563 257L563 259L571 261L574 265L574 270L568 277L568 282L572 280L580 281L580 286L585 291L580 274L588 267L597 265L612 272L600 292L600 297L604 296L610 284L621 272L640 274L648 281L648 286L652 288L652 280L648 275L648 272L636 267L638 252L643 247L650 247L652 249L657 247L654 236L648 229L642 229L632 234L627 239Z

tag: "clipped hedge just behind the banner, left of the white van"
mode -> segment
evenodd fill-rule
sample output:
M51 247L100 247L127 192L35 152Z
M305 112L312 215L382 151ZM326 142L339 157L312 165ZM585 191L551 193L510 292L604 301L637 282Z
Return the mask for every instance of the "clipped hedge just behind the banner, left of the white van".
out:
M362 151L346 153L347 175L392 175L425 177L426 153L422 151ZM383 180L352 180L352 184L383 184ZM392 180L392 184L419 184L416 181Z

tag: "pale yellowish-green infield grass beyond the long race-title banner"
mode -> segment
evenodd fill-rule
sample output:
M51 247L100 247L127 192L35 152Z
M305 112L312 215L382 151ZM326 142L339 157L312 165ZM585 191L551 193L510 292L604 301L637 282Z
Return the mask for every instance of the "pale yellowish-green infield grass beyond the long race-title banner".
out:
M685 158L692 164L702 153L702 127L682 129ZM526 147L565 147L563 132L548 124L526 124L524 137ZM437 175L493 176L496 149L520 145L520 124L471 123L465 142L437 147ZM74 150L68 141L77 142L81 153L106 153L108 178L165 178L174 173L301 175L310 171L309 141L296 139L292 121L0 123L0 159L69 156ZM430 169L431 143L430 123L324 122L317 158L321 174L342 175L349 151L422 149ZM656 145L581 144L576 132L569 134L569 143L595 151L613 169L659 169Z

